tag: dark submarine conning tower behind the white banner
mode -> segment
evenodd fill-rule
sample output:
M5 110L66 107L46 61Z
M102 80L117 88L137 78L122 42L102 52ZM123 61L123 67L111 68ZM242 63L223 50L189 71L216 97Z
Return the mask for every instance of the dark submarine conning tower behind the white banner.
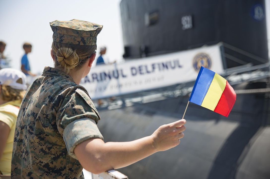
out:
M224 69L269 62L264 0L122 0L120 11L126 60L223 42Z

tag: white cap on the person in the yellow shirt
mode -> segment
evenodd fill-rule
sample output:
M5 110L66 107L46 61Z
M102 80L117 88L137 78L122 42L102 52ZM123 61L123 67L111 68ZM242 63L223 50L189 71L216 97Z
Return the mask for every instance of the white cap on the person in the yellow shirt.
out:
M22 78L22 84L17 80ZM13 68L3 68L0 70L0 85L10 86L16 90L26 90L26 75L22 71Z

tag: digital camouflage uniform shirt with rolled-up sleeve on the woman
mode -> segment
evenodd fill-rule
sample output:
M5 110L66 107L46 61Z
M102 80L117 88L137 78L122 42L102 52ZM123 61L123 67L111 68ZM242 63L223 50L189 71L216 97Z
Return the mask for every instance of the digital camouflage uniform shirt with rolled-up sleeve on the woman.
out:
M84 178L74 148L100 138L99 114L85 88L45 67L22 101L12 153L12 178Z

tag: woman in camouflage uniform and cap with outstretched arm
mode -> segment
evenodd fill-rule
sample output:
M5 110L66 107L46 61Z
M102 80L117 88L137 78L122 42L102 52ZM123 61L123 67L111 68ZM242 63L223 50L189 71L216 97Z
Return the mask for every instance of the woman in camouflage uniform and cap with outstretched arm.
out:
M107 142L86 89L79 85L92 66L102 26L71 20L53 21L51 55L55 68L28 88L14 137L12 178L83 178L82 169L101 173L130 165L177 146L185 120L159 127L130 142Z

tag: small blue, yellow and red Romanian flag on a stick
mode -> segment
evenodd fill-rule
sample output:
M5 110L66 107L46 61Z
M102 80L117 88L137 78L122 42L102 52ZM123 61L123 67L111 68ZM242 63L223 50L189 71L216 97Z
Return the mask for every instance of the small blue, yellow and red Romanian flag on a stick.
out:
M236 94L226 79L201 67L189 101L228 117Z

